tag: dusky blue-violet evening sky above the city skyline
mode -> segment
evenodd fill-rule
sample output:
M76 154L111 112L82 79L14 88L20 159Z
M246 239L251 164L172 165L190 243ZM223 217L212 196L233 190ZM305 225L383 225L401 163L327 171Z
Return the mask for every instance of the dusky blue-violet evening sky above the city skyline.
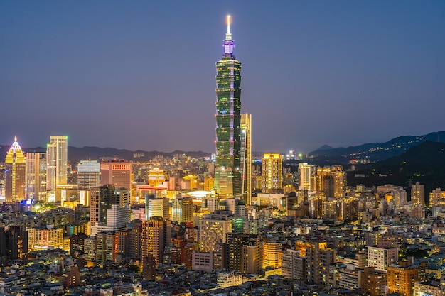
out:
M214 153L227 14L254 151L445 130L443 0L0 0L0 144Z

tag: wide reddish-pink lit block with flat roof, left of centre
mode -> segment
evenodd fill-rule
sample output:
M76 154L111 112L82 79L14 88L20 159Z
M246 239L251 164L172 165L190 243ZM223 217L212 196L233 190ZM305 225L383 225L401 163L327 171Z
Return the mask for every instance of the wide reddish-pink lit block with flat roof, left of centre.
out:
M116 188L132 188L132 163L112 160L100 163L100 185L113 185Z

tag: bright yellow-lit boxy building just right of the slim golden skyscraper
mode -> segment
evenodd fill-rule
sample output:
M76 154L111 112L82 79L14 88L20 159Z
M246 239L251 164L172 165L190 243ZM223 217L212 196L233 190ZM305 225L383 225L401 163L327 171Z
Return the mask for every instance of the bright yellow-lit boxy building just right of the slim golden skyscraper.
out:
M262 192L273 193L282 188L283 160L277 153L265 153L262 159Z

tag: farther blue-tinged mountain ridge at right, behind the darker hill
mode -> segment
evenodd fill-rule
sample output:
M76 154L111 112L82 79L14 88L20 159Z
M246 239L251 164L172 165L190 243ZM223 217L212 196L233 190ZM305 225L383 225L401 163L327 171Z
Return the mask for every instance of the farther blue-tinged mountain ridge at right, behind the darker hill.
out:
M445 131L429 133L424 136L399 136L385 143L367 143L360 146L349 146L346 148L321 149L309 153L309 157L317 162L317 158L334 158L343 160L343 163L382 161L401 155L409 148L418 146L425 141L445 143ZM322 146L325 147L325 146Z

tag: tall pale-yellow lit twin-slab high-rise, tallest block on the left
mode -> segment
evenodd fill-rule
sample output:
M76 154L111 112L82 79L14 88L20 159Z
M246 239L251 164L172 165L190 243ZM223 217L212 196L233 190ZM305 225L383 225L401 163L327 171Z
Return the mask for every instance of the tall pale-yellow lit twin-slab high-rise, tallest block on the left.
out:
M55 190L68 182L68 136L50 136L46 145L46 189Z

